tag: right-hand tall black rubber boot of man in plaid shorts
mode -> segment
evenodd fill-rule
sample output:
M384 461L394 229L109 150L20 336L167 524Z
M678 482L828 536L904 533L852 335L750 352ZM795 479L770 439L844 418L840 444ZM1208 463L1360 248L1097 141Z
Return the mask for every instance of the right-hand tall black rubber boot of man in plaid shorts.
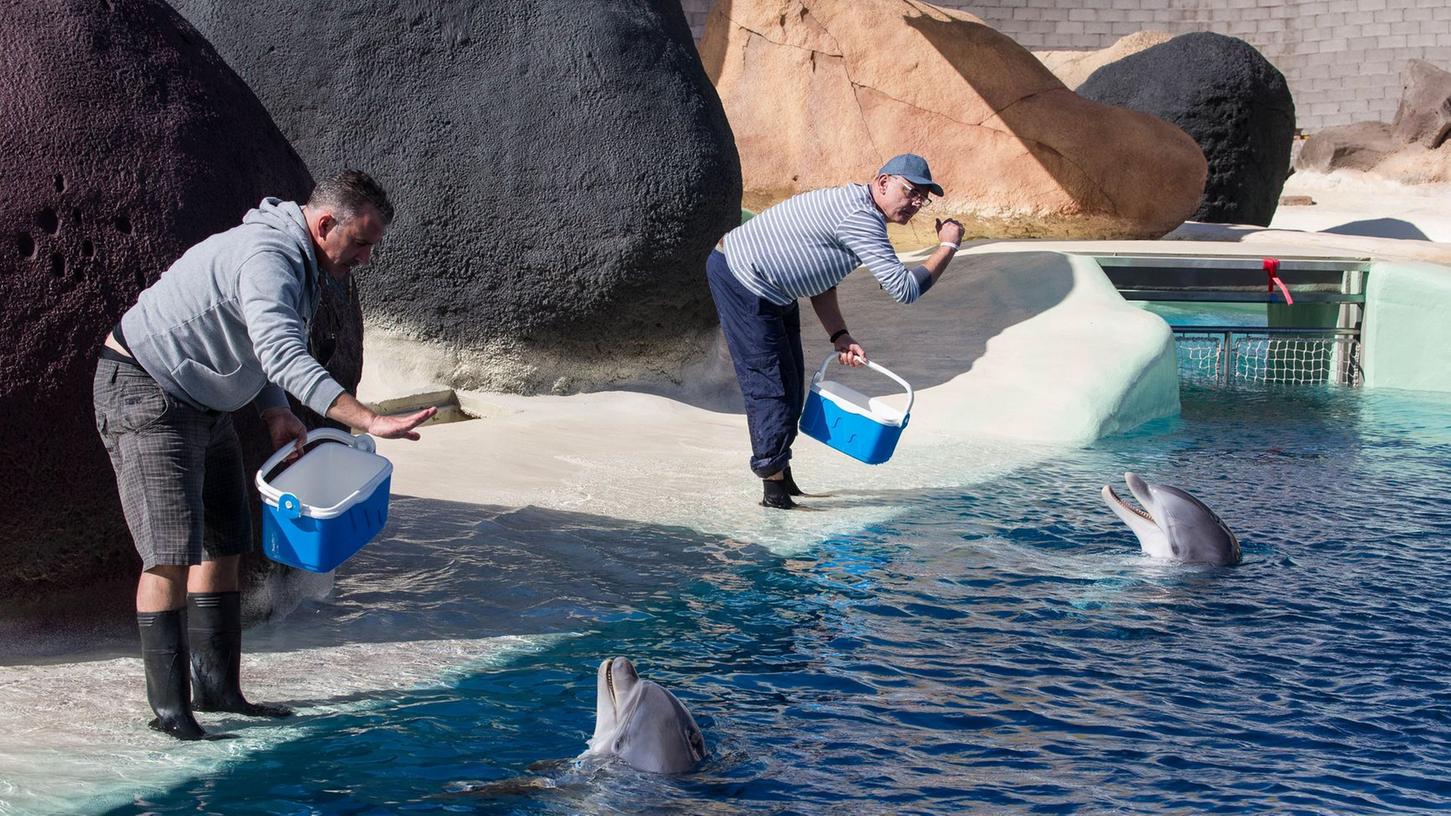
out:
M242 697L242 594L189 592L186 607L196 710L290 717L286 706L261 706Z

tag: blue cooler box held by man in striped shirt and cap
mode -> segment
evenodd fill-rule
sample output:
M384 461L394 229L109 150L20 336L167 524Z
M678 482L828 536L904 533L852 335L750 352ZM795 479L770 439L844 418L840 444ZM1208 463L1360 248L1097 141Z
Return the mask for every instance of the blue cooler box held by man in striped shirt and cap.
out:
M801 409L801 433L840 450L852 459L868 465L881 465L892 457L897 440L911 417L913 389L903 378L876 363L866 367L897 380L907 389L907 407L894 408L879 396L862 392L833 380L823 380L826 369L836 359L827 354L811 378L811 391Z

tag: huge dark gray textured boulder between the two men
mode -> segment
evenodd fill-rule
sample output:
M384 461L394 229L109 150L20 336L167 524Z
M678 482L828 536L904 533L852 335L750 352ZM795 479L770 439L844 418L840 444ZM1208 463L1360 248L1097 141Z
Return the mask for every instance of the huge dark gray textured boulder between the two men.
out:
M678 0L173 4L315 171L387 187L364 314L453 385L669 376L714 327L740 167Z

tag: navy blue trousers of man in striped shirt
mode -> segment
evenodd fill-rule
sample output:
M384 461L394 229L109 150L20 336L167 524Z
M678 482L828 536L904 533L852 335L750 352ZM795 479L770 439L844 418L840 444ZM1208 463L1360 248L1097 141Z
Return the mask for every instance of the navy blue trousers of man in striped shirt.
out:
M750 469L766 478L791 462L805 369L801 356L801 306L778 306L741 286L723 253L705 261L715 314L736 364L736 382L746 398L750 428Z

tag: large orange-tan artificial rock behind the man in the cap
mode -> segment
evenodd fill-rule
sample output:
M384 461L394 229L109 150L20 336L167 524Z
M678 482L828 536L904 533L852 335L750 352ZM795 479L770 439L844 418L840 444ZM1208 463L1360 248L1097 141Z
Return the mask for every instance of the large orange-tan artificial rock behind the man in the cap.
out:
M1152 238L1199 206L1181 129L1081 99L1016 42L913 0L720 0L701 41L750 203L918 152L969 237Z

